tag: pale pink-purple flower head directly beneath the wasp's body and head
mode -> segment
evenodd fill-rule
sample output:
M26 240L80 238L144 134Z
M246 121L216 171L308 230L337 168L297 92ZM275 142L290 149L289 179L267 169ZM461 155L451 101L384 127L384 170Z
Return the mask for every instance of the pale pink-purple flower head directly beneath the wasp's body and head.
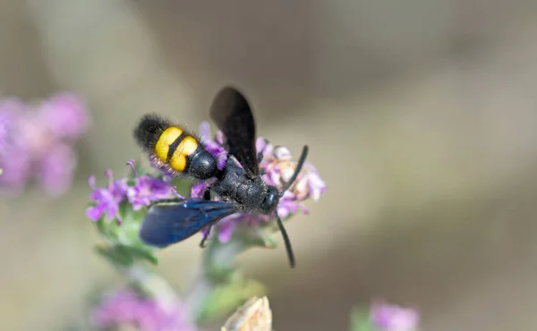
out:
M226 163L227 157L223 133L218 131L214 138L211 137L209 123L201 123L200 132L206 148L213 156L217 157L218 167L221 168ZM256 140L256 149L261 151L263 155L260 162L260 169L264 173L262 175L263 180L268 185L273 185L280 191L283 190L293 176L297 165L291 152L283 146L274 146L261 137ZM209 184L209 182L200 182L192 185L191 198L202 197ZM327 185L320 178L317 169L306 161L296 181L279 200L277 215L285 219L299 210L307 214L308 209L303 206L302 202L310 198L317 201L326 190ZM272 217L255 213L227 216L217 224L218 240L224 243L228 242L233 236L235 226L240 222L245 222L248 225L258 225L260 222L266 222Z

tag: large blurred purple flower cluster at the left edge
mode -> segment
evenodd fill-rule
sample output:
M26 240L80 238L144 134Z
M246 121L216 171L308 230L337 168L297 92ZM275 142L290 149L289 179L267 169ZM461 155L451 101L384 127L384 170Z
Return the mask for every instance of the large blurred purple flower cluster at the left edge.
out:
M0 101L0 189L20 193L36 180L51 195L69 190L77 165L73 144L89 124L86 106L72 94L27 105Z

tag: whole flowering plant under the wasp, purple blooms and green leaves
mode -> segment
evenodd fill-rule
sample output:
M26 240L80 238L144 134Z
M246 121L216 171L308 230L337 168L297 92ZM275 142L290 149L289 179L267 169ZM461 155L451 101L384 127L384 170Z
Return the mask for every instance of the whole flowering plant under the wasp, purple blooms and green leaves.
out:
M222 169L228 158L228 152L225 148L225 137L222 132L217 132L214 139L210 135L209 123L202 123L200 132L201 139L205 148L214 157L217 158L217 166ZM288 149L275 147L266 140L257 141L257 149L263 151L263 159L260 163L260 170L263 172L263 179L269 184L277 187L282 191L287 187L294 174L297 164L291 157ZM149 157L149 162L151 159ZM140 285L141 288L150 289L157 286L150 280L141 280L133 277L128 270L133 267L139 267L139 261L149 261L157 264L158 259L154 256L156 248L150 247L141 241L139 232L140 226L146 216L147 208L152 202L161 199L184 199L179 195L181 191L190 198L202 198L204 191L210 185L210 181L192 182L185 181L182 178L168 178L169 174L162 171L156 175L142 173L137 170L133 161L128 163L132 167L132 175L124 178L115 179L110 170L105 174L107 184L104 187L96 185L96 177L90 176L91 205L86 210L87 216L95 221L99 233L107 241L98 246L98 252L108 259L113 265L119 266L125 275L129 277L133 284ZM153 166L155 166L153 164ZM315 168L306 163L303 171L298 175L296 181L291 183L285 195L279 200L277 214L282 218L288 218L302 210L304 213L307 209L303 206L305 199L320 199L320 195L326 191L325 183L320 179L320 175ZM218 199L218 197L215 197ZM257 229L246 226L244 232L235 232L236 225L261 225L268 224L268 220L273 216L264 216L256 213L237 213L227 216L217 224L217 241L211 241L209 244L212 248L203 250L205 257L202 264L203 272L199 281L193 285L193 290L186 298L189 302L189 315L192 320L203 321L209 318L215 318L218 314L226 313L234 309L237 303L243 301L244 297L250 297L252 294L260 295L264 289L259 282L243 277L238 271L234 270L233 260L236 254L245 248L259 244L260 240L267 238L267 232L257 231ZM111 222L115 220L115 222ZM255 231L250 232L250 229ZM234 236L237 241L243 241L240 245L229 245L232 250L226 250L226 253L219 253L223 245L221 242L231 240ZM255 233L257 236L251 236ZM126 270L126 271L125 271ZM210 272L208 272L210 270ZM158 277L158 276L155 276ZM152 287L153 286L153 287ZM173 289L166 291L174 292ZM151 292L151 291L149 291ZM151 293L156 293L152 291ZM95 314L96 325L99 327L138 327L141 330L184 330L187 329L182 325L175 325L174 318L170 319L167 312L163 312L162 306L155 299L155 296L141 298L131 292L115 293L107 300L100 303ZM266 299L265 299L266 301ZM251 322L244 327L257 325L258 327L269 327L268 302L257 302L248 310L251 313ZM258 307L259 306L259 307ZM170 310L166 310L170 311ZM181 311L175 308L171 309L172 315L181 316ZM230 328L235 329L235 328ZM243 328L236 328L242 330Z

